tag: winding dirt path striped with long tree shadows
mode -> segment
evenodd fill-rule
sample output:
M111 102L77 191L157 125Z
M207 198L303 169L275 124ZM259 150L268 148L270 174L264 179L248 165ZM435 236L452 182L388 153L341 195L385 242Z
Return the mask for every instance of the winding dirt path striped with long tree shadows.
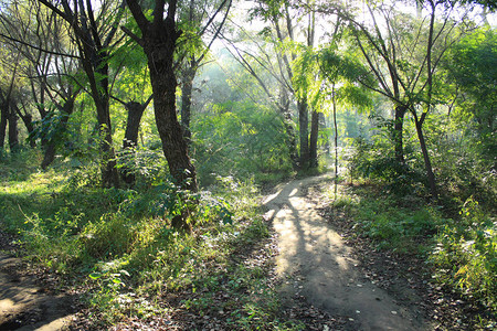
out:
M413 307L403 307L360 273L340 235L306 199L307 188L329 180L327 175L295 180L277 188L264 204L279 235L276 259L286 281L284 296L302 295L331 316L345 316L351 330L427 330Z

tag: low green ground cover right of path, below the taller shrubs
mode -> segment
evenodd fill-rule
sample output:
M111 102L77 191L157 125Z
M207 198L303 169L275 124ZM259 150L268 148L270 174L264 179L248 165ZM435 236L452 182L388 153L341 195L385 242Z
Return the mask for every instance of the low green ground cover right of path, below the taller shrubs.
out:
M421 257L438 286L478 306L475 328L496 325L497 222L477 201L467 199L454 217L421 197L385 194L373 184L326 194L335 212L353 220L358 235L380 249Z

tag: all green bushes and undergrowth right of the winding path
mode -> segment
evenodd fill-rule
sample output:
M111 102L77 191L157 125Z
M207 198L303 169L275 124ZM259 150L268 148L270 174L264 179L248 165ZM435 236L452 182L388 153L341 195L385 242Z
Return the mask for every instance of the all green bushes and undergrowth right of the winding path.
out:
M491 161L484 161L480 145L474 149L472 138L459 140L459 151L478 161L462 162L462 156L458 161L454 156L437 159L440 194L433 199L420 180L415 154L408 157L408 172L392 175L396 170L389 151L381 152L385 136L380 130L350 141L355 148L343 166L352 175L342 178L338 191L326 189L327 216L349 217L352 236L368 238L371 249L396 256L399 263L422 261L415 266L420 276L452 297L443 309L451 309L448 302L465 303L454 318L466 319L466 327L452 328L491 330L497 323L497 185ZM454 148L447 140L438 143L441 150Z

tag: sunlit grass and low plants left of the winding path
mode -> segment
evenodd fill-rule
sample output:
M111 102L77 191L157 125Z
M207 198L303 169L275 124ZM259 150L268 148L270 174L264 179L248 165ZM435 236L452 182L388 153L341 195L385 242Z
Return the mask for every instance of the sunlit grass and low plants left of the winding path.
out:
M302 329L279 319L271 249L253 254L269 239L253 181L219 178L197 196L194 233L184 235L170 228L180 201L169 182L101 189L84 177L94 166L41 172L39 158L0 164L0 226L27 258L78 284L91 328L192 312L237 330Z

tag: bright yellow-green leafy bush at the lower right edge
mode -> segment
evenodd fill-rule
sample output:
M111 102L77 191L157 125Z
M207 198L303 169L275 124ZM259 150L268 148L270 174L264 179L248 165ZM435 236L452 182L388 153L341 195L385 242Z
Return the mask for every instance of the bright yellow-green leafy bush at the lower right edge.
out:
M441 228L431 261L436 279L497 311L497 223L469 197L461 220Z

